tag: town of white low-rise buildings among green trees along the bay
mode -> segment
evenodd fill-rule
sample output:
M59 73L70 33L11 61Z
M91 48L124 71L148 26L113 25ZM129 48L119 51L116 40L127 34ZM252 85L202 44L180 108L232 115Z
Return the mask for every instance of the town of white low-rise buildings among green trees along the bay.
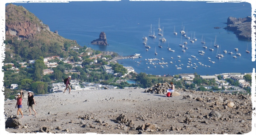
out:
M171 82L173 81L177 87L185 87L192 90L199 91L214 91L214 92L224 92L224 93L241 93L241 94L250 94L251 92L251 76L252 73L224 73L218 75L197 75L195 74L178 74L174 76L170 75L146 75L144 79L150 79L149 84L145 84L143 80L139 80L136 76L136 72L132 67L123 67L118 64L116 59L117 55L114 55L113 52L98 52L95 53L95 50L86 47L74 47L72 50L78 52L79 48L84 49L80 56L78 56L79 61L70 61L69 59L61 58L60 56L50 56L43 59L46 69L42 71L42 80L41 82L48 82L48 87L45 92L35 91L36 94L46 94L50 92L63 92L65 89L65 84L63 79L71 75L71 91L79 90L95 90L95 89L117 89L117 88L148 88L153 86L155 83ZM80 49L80 50L81 50ZM94 51L94 52L93 52ZM88 58L84 57L84 53ZM113 58L115 60L113 60ZM119 57L120 58L120 57ZM127 57L124 57L127 58ZM84 60L83 60L84 59ZM60 62L61 61L61 62ZM85 62L86 61L86 62ZM98 63L101 61L101 63ZM102 62L103 61L103 62ZM113 61L110 63L109 61ZM32 68L35 66L36 60L28 60L27 62L18 62L19 66L15 66L14 63L5 63L4 71L13 71L13 74L18 74L20 69ZM58 64L59 63L59 64ZM56 77L58 74L57 70L54 69L60 67L60 63L66 65L64 67L64 74L61 74L59 77ZM86 65L85 65L86 63ZM123 70L113 70L115 63L119 65ZM68 68L67 68L68 65ZM87 65L93 68L85 68ZM19 69L19 68L20 69ZM81 79L83 70L86 71L86 78ZM95 72L96 75L95 75ZM119 71L119 72L118 72ZM123 73L121 73L123 71ZM92 75L91 72L94 72ZM109 75L109 77L102 79L99 77L99 74ZM97 75L98 74L98 75ZM142 74L142 73L140 73ZM145 74L145 73L144 73ZM139 75L139 74L137 74ZM48 76L48 79L46 77ZM52 76L52 77L50 77ZM53 77L55 76L55 77ZM94 77L93 77L94 76ZM54 81L50 78L54 78ZM90 79L88 79L90 78ZM57 80L56 80L57 79ZM87 80L87 81L83 81ZM29 81L28 81L29 82ZM29 84L32 83L32 80ZM208 85L207 85L208 84ZM18 90L20 88L33 90L30 87L24 87L25 84L17 83L10 84L9 88L11 90ZM8 88L8 86L5 86Z

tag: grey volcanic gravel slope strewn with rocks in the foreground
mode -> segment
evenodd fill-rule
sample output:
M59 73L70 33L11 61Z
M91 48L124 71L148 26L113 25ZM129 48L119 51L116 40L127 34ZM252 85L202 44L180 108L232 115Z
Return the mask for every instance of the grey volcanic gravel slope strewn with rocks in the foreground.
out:
M68 92L67 92L68 93ZM10 133L243 134L252 130L250 95L179 89L173 97L145 89L72 91L34 96L37 116L24 118ZM4 115L16 119L16 100L4 102ZM18 116L20 118L21 115ZM7 125L6 125L7 126ZM254 128L254 127L253 127Z

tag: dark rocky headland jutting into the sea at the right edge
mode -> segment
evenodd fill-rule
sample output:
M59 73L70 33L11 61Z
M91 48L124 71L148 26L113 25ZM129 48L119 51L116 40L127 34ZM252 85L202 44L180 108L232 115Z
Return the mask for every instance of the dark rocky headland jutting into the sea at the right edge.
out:
M237 35L239 39L249 39L252 40L252 17L247 16L245 18L235 18L228 17L227 27L225 29L234 31L234 34Z

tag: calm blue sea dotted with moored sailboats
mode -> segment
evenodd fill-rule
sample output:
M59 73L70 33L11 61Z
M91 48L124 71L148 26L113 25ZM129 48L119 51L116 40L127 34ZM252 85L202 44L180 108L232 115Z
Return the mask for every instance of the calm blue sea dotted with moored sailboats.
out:
M51 31L58 30L60 36L76 40L81 46L86 45L100 51L114 51L122 56L140 53L142 58L118 60L118 63L124 66L132 66L138 73L176 75L196 72L199 75L214 75L230 72L248 73L256 67L255 62L252 62L252 53L245 52L247 44L251 51L252 42L240 40L232 31L223 29L226 27L225 23L229 16L236 18L252 16L250 3L122 0L13 4L22 5L44 24L47 24ZM151 24L157 39L148 37ZM166 42L160 42L163 48L158 47L161 37L158 35L158 25L163 29L163 36L166 39ZM177 35L173 34L174 26ZM195 43L181 36L180 31L184 27L189 37L197 38ZM220 27L220 29L214 29L214 27ZM101 32L106 33L109 45L91 45L90 42L98 39ZM149 51L146 51L142 43L143 36L148 38L147 43L151 47ZM203 48L201 43L202 36L207 49ZM220 52L224 55L221 59L215 57L218 49L213 45L215 37L217 44L220 45ZM188 49L182 52L184 48L179 44L186 40ZM175 52L167 50L168 44ZM214 51L209 50L210 46L214 48ZM155 48L158 55L154 54ZM238 51L236 52L234 48L238 48ZM200 50L205 52L204 55L199 55ZM224 53L223 50L232 51L235 54ZM236 53L241 53L241 56L233 58ZM177 57L178 55L181 57ZM153 58L159 59L159 61L152 61L153 63L166 62L168 64L161 67L145 60ZM199 65L199 62L210 67ZM188 63L192 64L189 65L190 68L187 68ZM178 70L176 65L181 69Z

